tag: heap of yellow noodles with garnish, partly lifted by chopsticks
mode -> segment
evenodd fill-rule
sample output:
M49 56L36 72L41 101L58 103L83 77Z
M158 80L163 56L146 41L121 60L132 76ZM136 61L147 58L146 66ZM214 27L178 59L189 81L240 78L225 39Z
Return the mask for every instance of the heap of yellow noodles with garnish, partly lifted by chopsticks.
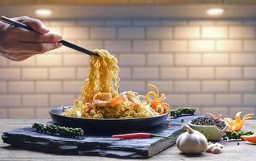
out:
M64 115L76 118L146 118L170 112L164 102L166 96L156 85L145 95L134 91L119 93L120 78L118 60L106 50L94 50L99 56L91 56L90 72L82 87L81 96L74 105L65 109Z

